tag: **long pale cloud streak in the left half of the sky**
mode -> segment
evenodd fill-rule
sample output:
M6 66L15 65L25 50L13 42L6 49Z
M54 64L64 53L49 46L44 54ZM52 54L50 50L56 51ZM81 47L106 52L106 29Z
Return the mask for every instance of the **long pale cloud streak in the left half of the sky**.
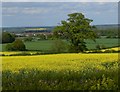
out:
M36 15L36 14L45 14L50 12L51 8L41 8L41 7L3 7L3 16L16 15L16 14L27 14L27 15Z

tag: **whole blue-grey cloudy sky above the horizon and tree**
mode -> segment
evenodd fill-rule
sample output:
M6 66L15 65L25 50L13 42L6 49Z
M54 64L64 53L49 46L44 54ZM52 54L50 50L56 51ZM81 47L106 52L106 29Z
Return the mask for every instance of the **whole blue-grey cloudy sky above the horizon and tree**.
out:
M56 26L74 12L83 13L94 25L118 23L117 2L3 2L2 26Z

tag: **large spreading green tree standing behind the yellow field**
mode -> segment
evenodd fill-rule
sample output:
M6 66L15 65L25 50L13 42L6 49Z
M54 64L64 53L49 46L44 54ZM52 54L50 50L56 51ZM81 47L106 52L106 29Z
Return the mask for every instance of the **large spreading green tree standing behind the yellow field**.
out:
M92 21L85 18L82 13L68 14L68 19L61 21L61 24L54 28L53 33L55 37L64 36L68 39L73 52L83 52L87 50L85 39L94 40L96 37L92 30L93 26L90 25Z

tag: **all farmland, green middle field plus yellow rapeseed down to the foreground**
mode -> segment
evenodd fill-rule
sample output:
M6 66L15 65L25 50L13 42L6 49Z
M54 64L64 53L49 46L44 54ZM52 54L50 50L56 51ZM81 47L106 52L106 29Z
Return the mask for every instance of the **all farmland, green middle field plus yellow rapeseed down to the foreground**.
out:
M85 40L86 52L67 54L51 53L54 41L24 41L27 51L11 52L1 44L3 90L118 90L117 38Z

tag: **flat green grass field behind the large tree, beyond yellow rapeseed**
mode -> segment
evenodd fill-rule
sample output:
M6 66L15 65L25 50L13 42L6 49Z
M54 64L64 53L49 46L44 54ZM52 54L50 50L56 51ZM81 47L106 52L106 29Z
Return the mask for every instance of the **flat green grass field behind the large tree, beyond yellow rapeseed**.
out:
M43 40L34 42L25 42L26 48L28 50L40 50L49 51L52 48L54 40ZM96 42L92 40L86 40L86 45L88 49L96 49L96 45L104 45L105 47L118 46L118 39L96 39ZM5 51L6 44L3 44L3 51Z

